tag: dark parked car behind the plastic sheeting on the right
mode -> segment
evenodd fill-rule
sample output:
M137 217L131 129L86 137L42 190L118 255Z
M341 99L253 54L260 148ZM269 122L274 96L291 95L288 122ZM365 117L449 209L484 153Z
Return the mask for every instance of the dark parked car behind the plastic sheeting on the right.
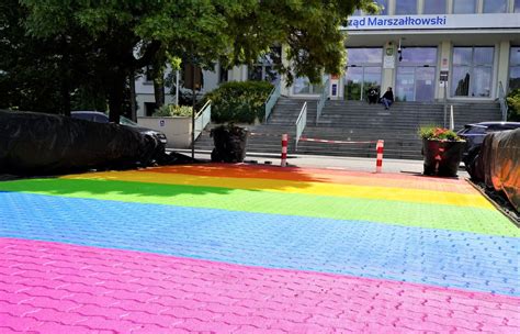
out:
M490 132L515 130L520 127L520 122L481 122L466 124L457 131L457 135L466 141L462 160L467 166L478 153L484 137Z

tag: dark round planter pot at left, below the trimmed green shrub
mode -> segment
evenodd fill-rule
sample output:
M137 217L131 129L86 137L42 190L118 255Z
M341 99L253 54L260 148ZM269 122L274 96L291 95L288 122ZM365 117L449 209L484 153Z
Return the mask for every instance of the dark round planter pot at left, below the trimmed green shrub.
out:
M214 163L242 163L249 131L235 125L221 125L211 132L215 148L212 152Z

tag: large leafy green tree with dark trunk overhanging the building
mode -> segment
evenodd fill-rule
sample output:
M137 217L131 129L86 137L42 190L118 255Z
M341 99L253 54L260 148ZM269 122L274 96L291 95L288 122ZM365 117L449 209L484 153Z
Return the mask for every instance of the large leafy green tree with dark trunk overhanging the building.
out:
M344 60L340 26L355 8L377 9L372 0L20 0L29 11L25 27L35 38L65 36L87 43L87 55L109 98L110 119L118 121L127 78L157 60L161 51L211 66L250 64L272 45L287 45L294 76L319 80L337 74ZM74 32L74 35L69 35ZM69 54L71 55L71 54ZM69 56L70 63L77 60ZM70 64L69 63L69 64ZM74 65L72 65L74 67ZM67 79L67 78L64 78Z

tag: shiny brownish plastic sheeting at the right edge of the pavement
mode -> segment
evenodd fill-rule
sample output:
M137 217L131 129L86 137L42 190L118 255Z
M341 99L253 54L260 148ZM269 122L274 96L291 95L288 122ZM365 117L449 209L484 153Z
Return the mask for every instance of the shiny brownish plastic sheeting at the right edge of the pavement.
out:
M520 211L520 129L486 135L472 178L504 191Z

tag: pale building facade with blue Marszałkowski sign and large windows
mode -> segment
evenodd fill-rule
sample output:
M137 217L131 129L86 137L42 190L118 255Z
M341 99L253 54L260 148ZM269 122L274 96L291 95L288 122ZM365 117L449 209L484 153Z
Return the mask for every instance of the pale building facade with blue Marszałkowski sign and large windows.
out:
M500 86L520 88L520 0L375 2L384 8L381 14L357 11L346 23L347 66L341 76L324 75L328 87L307 78L285 87L273 70L278 57L268 55L251 67L205 71L203 91L226 80L269 80L281 81L289 97L316 97L326 89L330 99L365 100L370 88L393 87L396 100L428 102L493 101ZM152 87L143 78L136 88L148 89L152 101Z

